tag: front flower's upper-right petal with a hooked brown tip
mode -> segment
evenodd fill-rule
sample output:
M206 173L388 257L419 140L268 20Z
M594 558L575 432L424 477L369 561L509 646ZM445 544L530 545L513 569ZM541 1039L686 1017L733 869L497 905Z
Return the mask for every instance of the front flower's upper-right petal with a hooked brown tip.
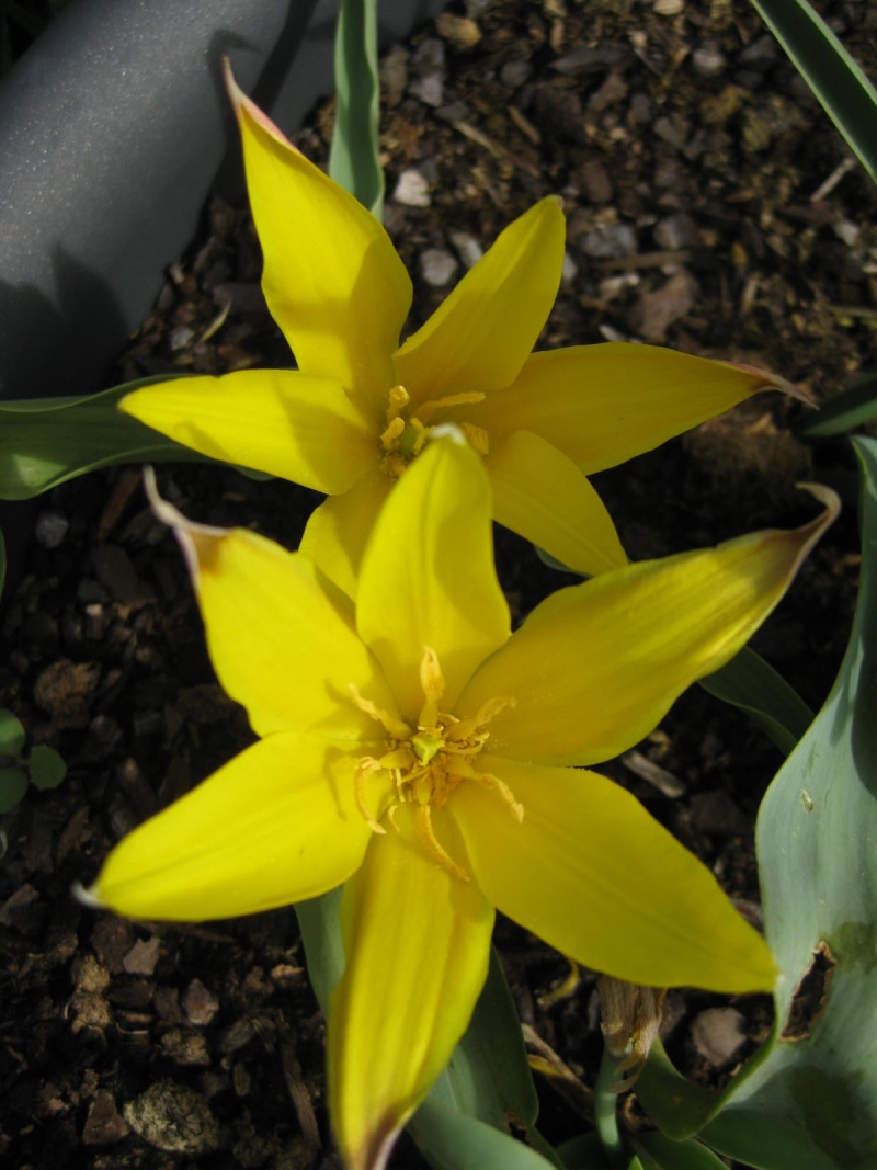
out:
M517 706L490 723L503 756L593 764L636 743L692 682L731 659L773 610L837 515L716 549L630 565L560 590L474 676L457 703L474 715L493 695Z

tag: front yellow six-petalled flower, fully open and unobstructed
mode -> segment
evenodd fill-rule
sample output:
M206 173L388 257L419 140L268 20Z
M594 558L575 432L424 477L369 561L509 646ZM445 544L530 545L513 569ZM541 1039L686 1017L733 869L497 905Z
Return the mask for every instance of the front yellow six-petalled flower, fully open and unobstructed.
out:
M381 511L355 606L301 552L156 503L261 738L125 838L90 890L192 920L346 883L329 1075L353 1168L384 1164L464 1032L495 907L631 983L772 986L767 947L710 872L569 765L626 750L726 662L834 516L602 574L512 634L488 476L447 429Z

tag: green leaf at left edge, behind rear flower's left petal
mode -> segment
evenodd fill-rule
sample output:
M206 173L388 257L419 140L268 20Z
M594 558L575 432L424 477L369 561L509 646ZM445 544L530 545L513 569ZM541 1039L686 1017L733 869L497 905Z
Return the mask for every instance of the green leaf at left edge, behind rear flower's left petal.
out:
M116 410L132 390L168 380L141 378L99 394L0 402L0 500L29 500L115 463L214 462Z

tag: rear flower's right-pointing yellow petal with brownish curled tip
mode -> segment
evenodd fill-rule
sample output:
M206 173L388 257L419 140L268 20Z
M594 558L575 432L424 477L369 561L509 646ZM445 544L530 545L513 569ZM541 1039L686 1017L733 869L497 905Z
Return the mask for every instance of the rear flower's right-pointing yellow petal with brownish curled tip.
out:
M458 417L491 435L526 429L588 475L658 447L781 378L658 345L609 342L533 353L515 385Z

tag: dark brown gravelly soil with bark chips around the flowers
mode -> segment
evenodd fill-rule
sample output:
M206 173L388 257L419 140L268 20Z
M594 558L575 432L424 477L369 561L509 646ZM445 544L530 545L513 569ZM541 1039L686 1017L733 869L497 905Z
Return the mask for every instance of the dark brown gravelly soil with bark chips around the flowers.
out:
M820 4L877 76L877 12ZM385 220L415 278L410 328L474 252L557 193L564 285L539 347L665 343L773 369L822 399L873 364L875 192L741 0L470 0L385 58ZM331 103L296 142L324 161ZM288 365L258 290L244 211L214 202L111 381ZM443 283L442 283L443 282ZM409 330L408 330L409 331ZM799 401L760 395L595 483L633 558L813 514L802 479L844 487L845 442L802 442ZM160 469L193 518L295 548L317 496L213 467ZM850 496L850 501L855 496ZM568 578L497 530L516 619ZM323 1019L290 911L208 925L81 907L119 837L253 738L215 682L181 558L122 468L41 502L32 559L6 598L0 706L69 765L4 817L0 1161L16 1168L337 1164ZM754 645L819 708L840 665L858 573L855 507ZM695 688L605 771L719 878L753 921L759 800L781 757ZM593 1083L595 976L510 923L497 934L523 1021ZM558 994L558 989L562 993ZM671 991L662 1035L720 1083L771 1026L766 997ZM539 1081L552 1142L587 1128L583 1096ZM587 1110L585 1110L587 1112ZM635 1096L624 1116L642 1124ZM393 1166L420 1165L403 1141Z

